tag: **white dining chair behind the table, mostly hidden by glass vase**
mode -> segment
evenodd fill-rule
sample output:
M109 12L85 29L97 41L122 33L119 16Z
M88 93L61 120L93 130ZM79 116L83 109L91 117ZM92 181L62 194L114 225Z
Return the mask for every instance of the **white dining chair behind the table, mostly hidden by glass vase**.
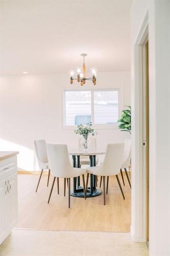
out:
M78 148L79 148L80 152L82 151L81 139L82 138L79 138L79 142L78 142ZM96 151L96 147L97 147L96 138L90 137L89 151L95 152ZM97 163L98 163L98 158L96 158L96 164ZM80 166L81 165L90 165L89 157L87 157L87 156L80 156Z

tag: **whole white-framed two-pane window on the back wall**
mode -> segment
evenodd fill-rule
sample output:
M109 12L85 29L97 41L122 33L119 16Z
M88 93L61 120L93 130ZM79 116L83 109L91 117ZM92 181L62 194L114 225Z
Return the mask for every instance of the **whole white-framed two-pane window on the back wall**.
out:
M64 125L114 124L119 116L119 90L64 91Z

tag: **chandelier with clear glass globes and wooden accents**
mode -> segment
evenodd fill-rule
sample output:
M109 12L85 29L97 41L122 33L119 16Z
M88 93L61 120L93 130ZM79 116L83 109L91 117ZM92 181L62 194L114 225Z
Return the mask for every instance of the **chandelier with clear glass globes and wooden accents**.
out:
M91 68L90 69L90 74L91 77L86 77L86 65L85 65L85 56L87 56L86 53L82 53L81 56L83 56L83 67L77 67L74 70L69 71L69 76L70 76L70 83L73 83L73 80L77 80L80 82L81 86L86 83L86 80L90 80L93 82L94 86L96 84L96 74L97 74L97 69L96 68ZM77 75L77 78L74 78L74 75Z

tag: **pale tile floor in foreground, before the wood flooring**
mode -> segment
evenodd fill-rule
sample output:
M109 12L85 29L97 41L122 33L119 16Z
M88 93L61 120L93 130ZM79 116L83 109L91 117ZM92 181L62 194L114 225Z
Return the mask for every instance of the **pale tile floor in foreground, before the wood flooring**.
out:
M130 233L14 229L0 246L1 256L148 256Z

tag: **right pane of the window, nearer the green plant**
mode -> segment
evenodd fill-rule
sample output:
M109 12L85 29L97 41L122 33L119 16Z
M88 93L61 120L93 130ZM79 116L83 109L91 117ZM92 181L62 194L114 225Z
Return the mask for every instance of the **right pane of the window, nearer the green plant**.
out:
M94 123L118 120L118 91L94 91Z

